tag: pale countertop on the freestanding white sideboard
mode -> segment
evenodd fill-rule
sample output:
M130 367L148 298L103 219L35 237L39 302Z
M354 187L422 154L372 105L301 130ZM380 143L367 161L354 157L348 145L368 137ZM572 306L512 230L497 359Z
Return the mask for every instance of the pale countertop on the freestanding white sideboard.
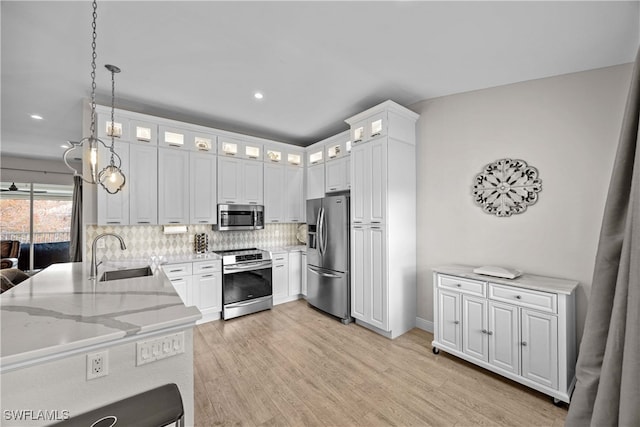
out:
M433 267L433 271L452 276L466 277L468 279L481 280L483 282L497 283L501 285L518 286L537 291L557 292L570 295L580 282L577 280L559 279L556 277L538 276L524 273L515 279L503 279L500 277L486 276L473 272L475 267L468 265L443 265Z

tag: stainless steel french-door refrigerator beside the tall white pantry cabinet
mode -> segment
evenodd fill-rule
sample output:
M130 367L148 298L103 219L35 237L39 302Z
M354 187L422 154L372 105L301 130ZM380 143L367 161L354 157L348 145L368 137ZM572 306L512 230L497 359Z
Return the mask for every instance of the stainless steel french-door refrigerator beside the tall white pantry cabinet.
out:
M307 302L349 323L349 196L307 200L307 228Z

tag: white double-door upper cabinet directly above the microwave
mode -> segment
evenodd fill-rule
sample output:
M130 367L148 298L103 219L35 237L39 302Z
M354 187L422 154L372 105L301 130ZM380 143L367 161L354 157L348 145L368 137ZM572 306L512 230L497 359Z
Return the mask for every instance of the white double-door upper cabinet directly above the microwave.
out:
M218 156L218 202L264 203L262 162Z

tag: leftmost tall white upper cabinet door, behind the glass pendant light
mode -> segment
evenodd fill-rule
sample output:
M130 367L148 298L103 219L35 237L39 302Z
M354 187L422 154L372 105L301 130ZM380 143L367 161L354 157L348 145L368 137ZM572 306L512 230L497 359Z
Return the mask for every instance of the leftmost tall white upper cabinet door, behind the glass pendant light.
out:
M129 173L129 144L122 141L114 142L114 150L120 157L120 169L125 176L125 185L115 194L109 194L100 184L96 185L98 225L129 225L129 187L131 176ZM98 172L109 165L110 151L100 144L98 148ZM117 158L116 158L117 164Z

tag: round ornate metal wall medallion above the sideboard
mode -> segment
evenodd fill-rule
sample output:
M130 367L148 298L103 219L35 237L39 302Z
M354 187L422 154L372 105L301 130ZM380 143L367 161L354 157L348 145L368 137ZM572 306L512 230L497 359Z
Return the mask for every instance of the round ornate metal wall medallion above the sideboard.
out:
M538 170L524 160L500 159L476 175L473 197L482 210L497 216L511 216L538 201L542 180Z

